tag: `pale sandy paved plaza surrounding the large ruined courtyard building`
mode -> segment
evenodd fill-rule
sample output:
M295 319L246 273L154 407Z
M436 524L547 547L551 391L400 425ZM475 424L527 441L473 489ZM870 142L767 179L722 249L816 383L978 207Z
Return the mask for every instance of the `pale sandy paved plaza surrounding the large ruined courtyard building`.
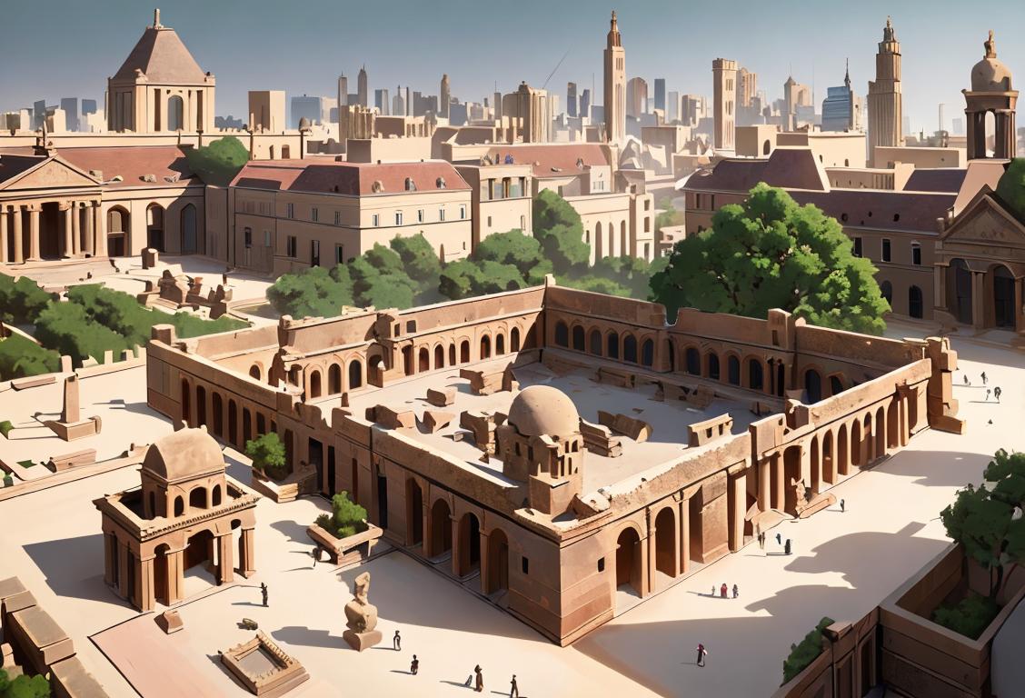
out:
M921 333L901 327L891 331L898 336ZM969 419L966 436L927 432L873 470L835 488L836 496L846 499L847 512L829 510L781 524L775 531L793 540L793 556L775 555L779 549L774 543L766 552L749 545L636 605L572 648L552 646L393 552L368 565L374 577L370 598L378 606L385 635L402 629L404 651L347 650L340 638L341 609L354 573L339 575L323 564L312 570L311 559L302 555L310 546L302 527L324 506L319 500L285 505L261 501L258 575L184 605L186 631L153 633L149 616L131 620L136 614L102 584L99 515L90 501L137 484L133 468L0 502L0 521L33 521L32 526L0 526L3 575L17 574L34 590L112 696L134 691L88 637L126 620L131 622L120 632L126 633L128 645L133 640L139 646L156 643L154 651L165 648L188 657L186 665L195 667L197 696L203 695L202 686L214 695L241 695L212 660L217 649L245 637L234 625L242 615L254 617L310 669L311 681L296 693L302 696L337 695L336 687L342 685L354 695L464 695L458 684L477 662L485 669L489 693L506 689L515 671L524 695L534 698L768 695L782 678L790 644L819 618L860 618L942 549L940 509L957 487L980 478L993 450L1025 450L1020 427L1025 422L1025 359L1010 350L960 339L954 343L973 382L963 386L961 372L955 376L955 395ZM977 385L983 370L990 386L1003 388L1002 405L985 401L985 389ZM158 418L148 419L152 428L167 428ZM122 438L135 438L134 427ZM0 455L6 457L8 448L0 443ZM245 476L242 466L233 464L231 470ZM250 606L258 592L248 585L260 581L271 588L266 610ZM741 598L710 598L711 586L723 582L739 584ZM200 576L189 583L191 588L205 586ZM116 634L95 640L110 641L113 653ZM709 650L704 668L693 663L699 642ZM120 646L124 652L126 643ZM413 652L421 659L416 678L402 673ZM120 660L129 674L131 662L127 656Z

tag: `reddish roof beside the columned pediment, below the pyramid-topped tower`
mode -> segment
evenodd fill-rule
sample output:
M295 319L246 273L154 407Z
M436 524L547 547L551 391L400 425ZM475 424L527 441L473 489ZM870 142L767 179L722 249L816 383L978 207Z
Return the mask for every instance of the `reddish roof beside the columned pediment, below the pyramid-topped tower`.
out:
M88 172L102 173L104 181L110 181L120 174L122 181L111 181L106 189L127 187L184 187L199 181L193 180L193 172L186 161L186 153L177 146L131 146L109 148L63 148L57 157L75 167ZM147 182L142 177L152 174L155 182ZM177 175L178 181L170 182L164 177Z

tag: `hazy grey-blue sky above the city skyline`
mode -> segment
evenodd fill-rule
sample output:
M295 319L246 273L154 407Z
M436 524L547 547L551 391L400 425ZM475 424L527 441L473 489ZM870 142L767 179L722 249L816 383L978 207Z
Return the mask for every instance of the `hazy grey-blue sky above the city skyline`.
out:
M0 110L43 97L101 100L107 77L153 22L152 4L139 0L47 0L45 12L32 2L2 2ZM1000 60L1025 80L1023 0L631 0L618 7L593 0L164 0L161 22L216 76L217 114L245 119L250 89L333 95L340 71L355 92L364 63L371 94L380 87L394 94L399 83L437 93L448 73L453 95L481 100L496 81L502 91L521 80L540 86L567 50L548 88L565 101L567 81L582 89L593 76L600 102L613 7L627 76L649 83L664 77L667 90L710 96L711 60L727 57L757 73L770 99L781 96L791 66L798 82L814 77L821 108L850 57L855 89L864 94L888 13L904 55L904 109L914 129L936 128L941 101L948 128L963 116L960 90L989 29Z

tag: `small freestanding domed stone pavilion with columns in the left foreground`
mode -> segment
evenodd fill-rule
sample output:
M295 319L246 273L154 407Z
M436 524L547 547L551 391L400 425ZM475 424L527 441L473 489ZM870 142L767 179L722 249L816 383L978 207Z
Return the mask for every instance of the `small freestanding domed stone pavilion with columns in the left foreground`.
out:
M224 475L205 428L158 439L139 476L139 488L93 501L102 516L104 581L119 597L152 611L181 601L186 572L198 565L217 584L255 572L258 497Z

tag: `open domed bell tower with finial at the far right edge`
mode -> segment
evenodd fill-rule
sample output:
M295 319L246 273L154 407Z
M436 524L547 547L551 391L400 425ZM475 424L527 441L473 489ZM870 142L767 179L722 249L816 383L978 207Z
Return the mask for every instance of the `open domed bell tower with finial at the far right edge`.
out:
M996 59L993 30L983 42L986 54L972 69L972 89L965 94L965 116L968 119L968 159L988 157L986 153L986 115L993 115L993 157L1003 160L1015 157L1015 106L1018 91L1014 89L1011 71Z

